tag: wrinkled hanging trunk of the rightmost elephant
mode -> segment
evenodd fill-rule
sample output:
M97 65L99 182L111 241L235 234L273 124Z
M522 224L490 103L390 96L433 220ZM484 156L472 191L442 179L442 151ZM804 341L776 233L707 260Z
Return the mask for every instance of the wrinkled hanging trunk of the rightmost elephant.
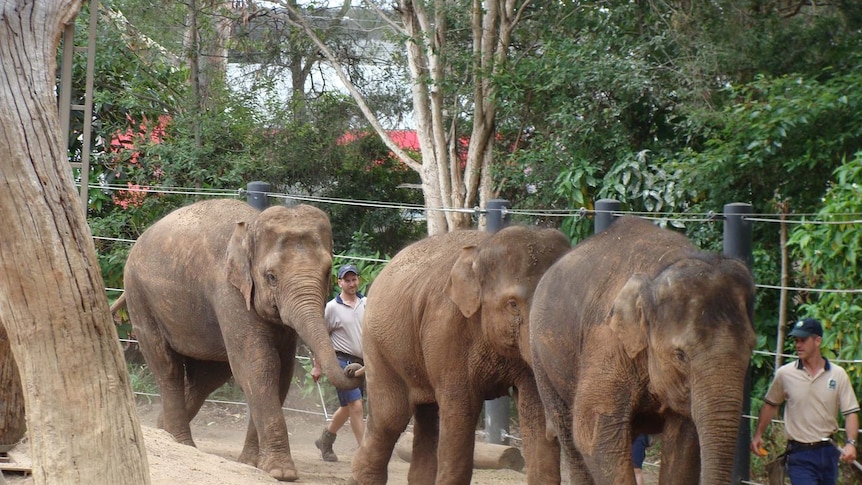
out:
M739 373L738 379L715 370L708 374L713 374L713 384L704 383L702 386L692 388L692 420L700 441L700 483L701 485L727 484L730 483L733 475L736 441L742 415L744 372ZM710 381L710 379L704 380ZM720 384L722 382L723 385ZM739 386L730 388L727 385L728 382L738 382Z

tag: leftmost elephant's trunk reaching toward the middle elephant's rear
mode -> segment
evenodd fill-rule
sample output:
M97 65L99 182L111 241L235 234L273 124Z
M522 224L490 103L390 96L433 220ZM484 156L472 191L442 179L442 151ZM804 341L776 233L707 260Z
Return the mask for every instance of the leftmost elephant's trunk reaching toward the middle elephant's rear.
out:
M298 300L305 301L303 299ZM292 311L283 308L281 313L282 321L290 322L290 325L296 329L299 338L314 353L320 370L332 385L338 389L354 389L362 385L363 379L361 377L348 377L338 363L329 332L326 330L326 321L323 319L322 304L303 304Z

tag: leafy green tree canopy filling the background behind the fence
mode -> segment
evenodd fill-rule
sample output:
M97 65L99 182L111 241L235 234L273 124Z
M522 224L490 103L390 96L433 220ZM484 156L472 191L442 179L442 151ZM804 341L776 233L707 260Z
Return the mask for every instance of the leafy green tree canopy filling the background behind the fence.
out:
M104 6L111 15L122 13L125 22L104 15L99 23L94 116L101 141L89 147L96 163L82 177L102 189L91 191L89 201L95 235L134 239L156 218L195 198L134 198L118 191L129 184L233 194L248 181L265 180L283 193L423 203L420 191L407 188L419 182L417 174L405 170L380 140L353 136L344 142L346 133L372 133L353 99L297 83L289 96L279 95L280 78L304 80L323 67L313 45L273 9L247 2L140 0ZM494 196L518 209L572 214L596 199L614 198L625 210L667 217L712 250L720 250L720 225L674 219L721 211L729 202L749 202L757 214L775 215L786 206L797 219L844 217L846 225L791 227L791 283L859 286L860 231L850 220L859 219L862 200L862 3L526 3L510 55L493 75L482 77L465 74L472 54L468 36L457 28L469 20L464 10L454 1L435 6L451 8L444 12L452 36L445 61L454 75L447 79L458 85L446 87L461 96L455 99L470 93L474 79L493 82L488 92L497 106ZM360 7L345 12L314 3L302 12L318 19L315 31L354 67L348 71L369 104L388 119L409 119L409 103L398 94L409 86L392 87L407 78L404 53L363 44L370 38L391 41L380 33L385 23L346 24L346 18L373 17ZM198 18L197 50L187 41L192 13ZM81 35L87 17L85 12L77 19ZM222 19L236 35L219 34ZM231 63L216 62L218 46ZM252 82L243 90L227 85L224 66L233 61L254 61ZM378 71L384 79L361 65L385 66ZM467 104L452 106L460 126L471 123ZM131 142L112 145L118 133ZM76 156L82 148L74 145L74 133L70 139ZM421 222L406 222L398 209L321 206L332 218L338 252L367 248L392 255L424 234ZM540 219L575 241L592 232L592 222L583 218ZM770 224L754 227L755 277L778 282L777 231ZM108 286L120 287L128 244L98 244ZM758 294L759 348L774 349L778 292ZM858 292L797 292L790 314L822 318L837 329L830 333L830 349L858 359L860 307ZM762 367L757 386L771 376L768 360L755 358ZM850 367L862 377L857 366Z

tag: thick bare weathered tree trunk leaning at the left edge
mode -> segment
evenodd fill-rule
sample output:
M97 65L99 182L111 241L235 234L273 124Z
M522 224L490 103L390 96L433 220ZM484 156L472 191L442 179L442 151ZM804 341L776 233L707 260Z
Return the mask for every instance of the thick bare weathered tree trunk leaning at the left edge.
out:
M35 483L148 484L129 376L60 138L55 59L80 6L0 3L0 321L25 390Z

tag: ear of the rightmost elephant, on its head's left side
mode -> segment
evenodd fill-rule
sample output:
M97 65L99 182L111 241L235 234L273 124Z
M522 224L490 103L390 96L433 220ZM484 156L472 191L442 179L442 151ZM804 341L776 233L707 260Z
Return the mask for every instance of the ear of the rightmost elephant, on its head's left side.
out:
M633 275L617 294L611 309L609 325L631 359L647 347L644 305L647 301L649 281L644 274Z

